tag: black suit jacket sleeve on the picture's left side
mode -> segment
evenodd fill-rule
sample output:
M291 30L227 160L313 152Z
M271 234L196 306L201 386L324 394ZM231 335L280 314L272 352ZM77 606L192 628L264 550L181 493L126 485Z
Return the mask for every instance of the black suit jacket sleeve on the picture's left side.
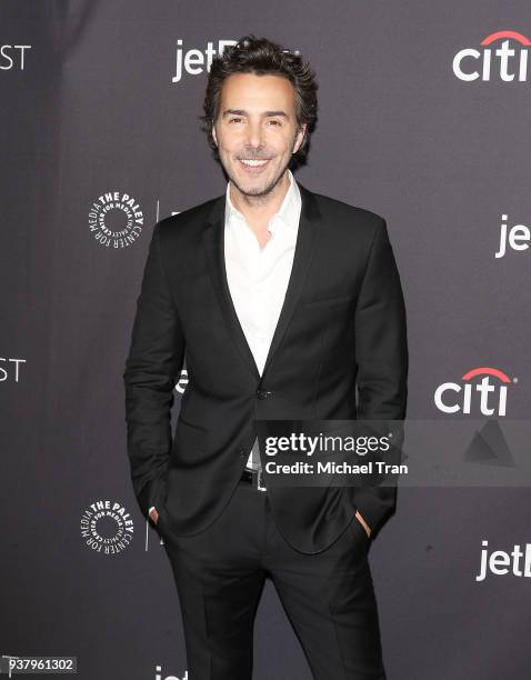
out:
M184 337L163 271L160 223L153 229L126 360L127 446L131 480L144 516L166 500L171 407Z

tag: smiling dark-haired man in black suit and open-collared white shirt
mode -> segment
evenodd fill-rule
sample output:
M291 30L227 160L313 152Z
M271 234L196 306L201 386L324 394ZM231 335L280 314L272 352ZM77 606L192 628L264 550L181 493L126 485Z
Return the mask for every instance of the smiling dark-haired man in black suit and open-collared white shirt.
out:
M257 419L405 417L385 221L290 170L315 122L313 76L254 36L214 59L204 120L227 191L156 226L138 299L128 452L173 569L193 680L251 678L267 574L314 678L385 678L367 551L395 489L273 488L257 440Z

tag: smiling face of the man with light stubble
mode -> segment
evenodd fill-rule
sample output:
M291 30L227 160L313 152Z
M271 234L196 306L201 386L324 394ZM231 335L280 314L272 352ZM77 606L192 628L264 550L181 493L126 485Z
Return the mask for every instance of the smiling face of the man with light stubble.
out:
M297 127L294 91L287 78L234 73L224 81L212 136L221 164L242 193L263 196L277 186L304 129Z

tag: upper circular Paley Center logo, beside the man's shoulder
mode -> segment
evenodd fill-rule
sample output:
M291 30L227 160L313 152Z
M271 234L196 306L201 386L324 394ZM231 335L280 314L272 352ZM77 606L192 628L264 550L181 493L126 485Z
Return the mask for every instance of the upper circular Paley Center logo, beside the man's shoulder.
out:
M108 191L92 202L89 227L106 248L128 248L141 236L143 212L136 198L123 191Z

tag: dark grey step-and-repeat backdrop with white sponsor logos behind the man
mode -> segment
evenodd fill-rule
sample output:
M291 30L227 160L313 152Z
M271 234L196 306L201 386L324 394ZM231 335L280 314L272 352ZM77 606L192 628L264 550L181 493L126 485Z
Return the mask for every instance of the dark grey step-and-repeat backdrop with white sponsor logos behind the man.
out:
M503 423L531 402L530 8L0 0L0 656L182 680L122 373L154 224L226 190L200 120L213 56L254 33L310 61L319 121L295 179L387 220L408 418L495 419L474 444L502 468ZM187 383L184 367L173 419ZM390 680L530 677L531 494L491 481L399 489L369 557ZM253 677L311 678L269 581Z

